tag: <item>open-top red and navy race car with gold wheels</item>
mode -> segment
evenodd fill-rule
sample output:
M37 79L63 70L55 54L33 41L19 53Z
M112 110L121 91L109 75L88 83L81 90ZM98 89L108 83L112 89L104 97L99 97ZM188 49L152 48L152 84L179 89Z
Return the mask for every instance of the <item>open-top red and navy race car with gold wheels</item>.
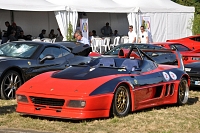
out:
M137 49L140 58L131 58ZM177 54L180 59L180 54ZM132 46L119 57L100 57L86 65L40 74L16 92L22 115L65 119L124 117L129 112L165 104L184 105L190 78L180 62L159 65Z

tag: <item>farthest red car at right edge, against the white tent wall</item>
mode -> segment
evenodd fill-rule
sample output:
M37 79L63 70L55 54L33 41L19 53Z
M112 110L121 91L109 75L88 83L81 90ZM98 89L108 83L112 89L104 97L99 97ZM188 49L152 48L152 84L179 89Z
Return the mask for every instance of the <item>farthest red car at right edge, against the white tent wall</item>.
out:
M190 49L200 49L200 35L188 36L179 39L167 40L167 42L179 42Z

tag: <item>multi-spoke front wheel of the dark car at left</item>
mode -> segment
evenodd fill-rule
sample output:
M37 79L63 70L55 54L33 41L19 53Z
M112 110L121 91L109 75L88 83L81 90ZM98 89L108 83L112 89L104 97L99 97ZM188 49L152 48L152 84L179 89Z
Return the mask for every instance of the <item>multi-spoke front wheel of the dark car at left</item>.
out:
M10 70L5 73L1 80L1 98L15 99L15 92L22 85L22 78L16 71Z

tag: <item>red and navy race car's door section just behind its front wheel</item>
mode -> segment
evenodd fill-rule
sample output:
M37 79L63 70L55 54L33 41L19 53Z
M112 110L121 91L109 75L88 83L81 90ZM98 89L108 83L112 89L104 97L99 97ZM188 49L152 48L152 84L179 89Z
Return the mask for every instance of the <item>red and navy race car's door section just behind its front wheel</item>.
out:
M143 61L141 72L134 75L134 107L141 109L155 104L163 91L163 74L153 62Z

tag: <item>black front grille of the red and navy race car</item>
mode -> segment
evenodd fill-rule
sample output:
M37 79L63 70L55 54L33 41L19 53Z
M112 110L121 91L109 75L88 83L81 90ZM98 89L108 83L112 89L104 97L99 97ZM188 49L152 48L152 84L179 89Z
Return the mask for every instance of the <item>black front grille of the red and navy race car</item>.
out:
M63 106L65 103L64 99L43 98L43 97L33 97L33 96L30 96L30 99L34 104L48 105L48 106Z

